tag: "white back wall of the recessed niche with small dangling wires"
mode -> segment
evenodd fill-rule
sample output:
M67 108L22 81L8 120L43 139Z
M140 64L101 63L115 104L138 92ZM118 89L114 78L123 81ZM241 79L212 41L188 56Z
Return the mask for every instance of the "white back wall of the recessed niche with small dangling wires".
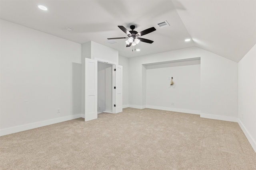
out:
M148 65L146 107L200 114L200 83L200 60Z

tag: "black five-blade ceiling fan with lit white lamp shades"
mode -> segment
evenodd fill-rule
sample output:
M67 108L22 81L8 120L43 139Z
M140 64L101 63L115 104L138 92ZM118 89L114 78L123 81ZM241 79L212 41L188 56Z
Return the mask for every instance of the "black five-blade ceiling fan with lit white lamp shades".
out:
M135 25L131 25L130 29L132 29L131 31L128 31L124 26L118 26L122 31L124 31L124 33L127 34L128 37L118 37L118 38L108 38L108 39L128 39L126 40L126 47L130 47L131 45L134 46L136 44L138 44L140 41L144 42L144 43L153 43L154 41L149 40L149 39L145 39L145 38L140 38L140 36L142 35L146 35L148 33L151 33L153 31L156 31L156 29L154 27L145 29L144 31L141 32L137 32L134 31L135 29Z

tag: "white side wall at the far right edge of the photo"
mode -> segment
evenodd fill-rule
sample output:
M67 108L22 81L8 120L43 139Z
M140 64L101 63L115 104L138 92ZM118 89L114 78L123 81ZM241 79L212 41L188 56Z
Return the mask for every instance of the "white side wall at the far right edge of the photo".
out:
M256 45L238 63L238 119L256 150Z

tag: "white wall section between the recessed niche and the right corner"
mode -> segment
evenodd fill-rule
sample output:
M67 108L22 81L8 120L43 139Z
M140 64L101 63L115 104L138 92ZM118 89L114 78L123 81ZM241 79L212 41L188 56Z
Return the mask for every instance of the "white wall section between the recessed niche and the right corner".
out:
M201 117L237 122L238 63L214 53L201 58Z

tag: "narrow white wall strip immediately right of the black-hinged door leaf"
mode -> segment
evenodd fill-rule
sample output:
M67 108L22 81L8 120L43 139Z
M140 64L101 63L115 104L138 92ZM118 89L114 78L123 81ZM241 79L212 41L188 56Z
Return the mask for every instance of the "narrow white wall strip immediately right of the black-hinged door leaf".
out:
M129 59L118 57L118 64L123 66L123 108L129 107Z

